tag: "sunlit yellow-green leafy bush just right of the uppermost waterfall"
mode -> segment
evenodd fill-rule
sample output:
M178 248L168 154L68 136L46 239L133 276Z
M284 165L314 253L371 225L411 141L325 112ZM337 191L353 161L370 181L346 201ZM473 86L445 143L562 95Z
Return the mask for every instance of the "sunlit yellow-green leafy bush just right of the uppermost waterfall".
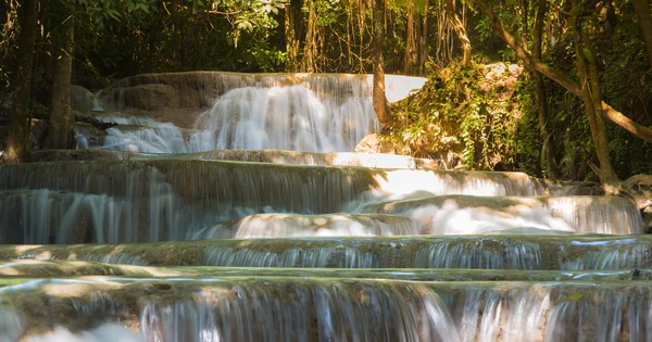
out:
M517 75L500 63L437 71L418 94L399 104L386 139L414 156L446 156L449 166L514 168L522 116L512 100Z

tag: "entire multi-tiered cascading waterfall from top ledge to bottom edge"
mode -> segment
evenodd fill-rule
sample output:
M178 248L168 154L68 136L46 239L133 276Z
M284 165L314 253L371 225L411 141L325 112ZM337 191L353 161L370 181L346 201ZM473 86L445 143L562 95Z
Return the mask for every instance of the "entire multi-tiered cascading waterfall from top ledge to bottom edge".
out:
M198 72L99 92L117 126L80 126L89 149L0 165L0 341L652 341L631 201L350 152L378 129L369 85Z

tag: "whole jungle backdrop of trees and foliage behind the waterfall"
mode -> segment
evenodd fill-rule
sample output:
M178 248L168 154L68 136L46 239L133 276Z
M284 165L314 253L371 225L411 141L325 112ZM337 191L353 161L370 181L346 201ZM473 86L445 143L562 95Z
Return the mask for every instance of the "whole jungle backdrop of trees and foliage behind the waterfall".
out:
M649 0L4 0L0 9L5 162L29 160L35 117L49 118L45 148L74 145L71 84L213 69L426 76L421 93L396 105L375 78L380 137L393 150L456 151L464 168L599 180L610 193L652 173ZM496 63L505 72L487 77Z

